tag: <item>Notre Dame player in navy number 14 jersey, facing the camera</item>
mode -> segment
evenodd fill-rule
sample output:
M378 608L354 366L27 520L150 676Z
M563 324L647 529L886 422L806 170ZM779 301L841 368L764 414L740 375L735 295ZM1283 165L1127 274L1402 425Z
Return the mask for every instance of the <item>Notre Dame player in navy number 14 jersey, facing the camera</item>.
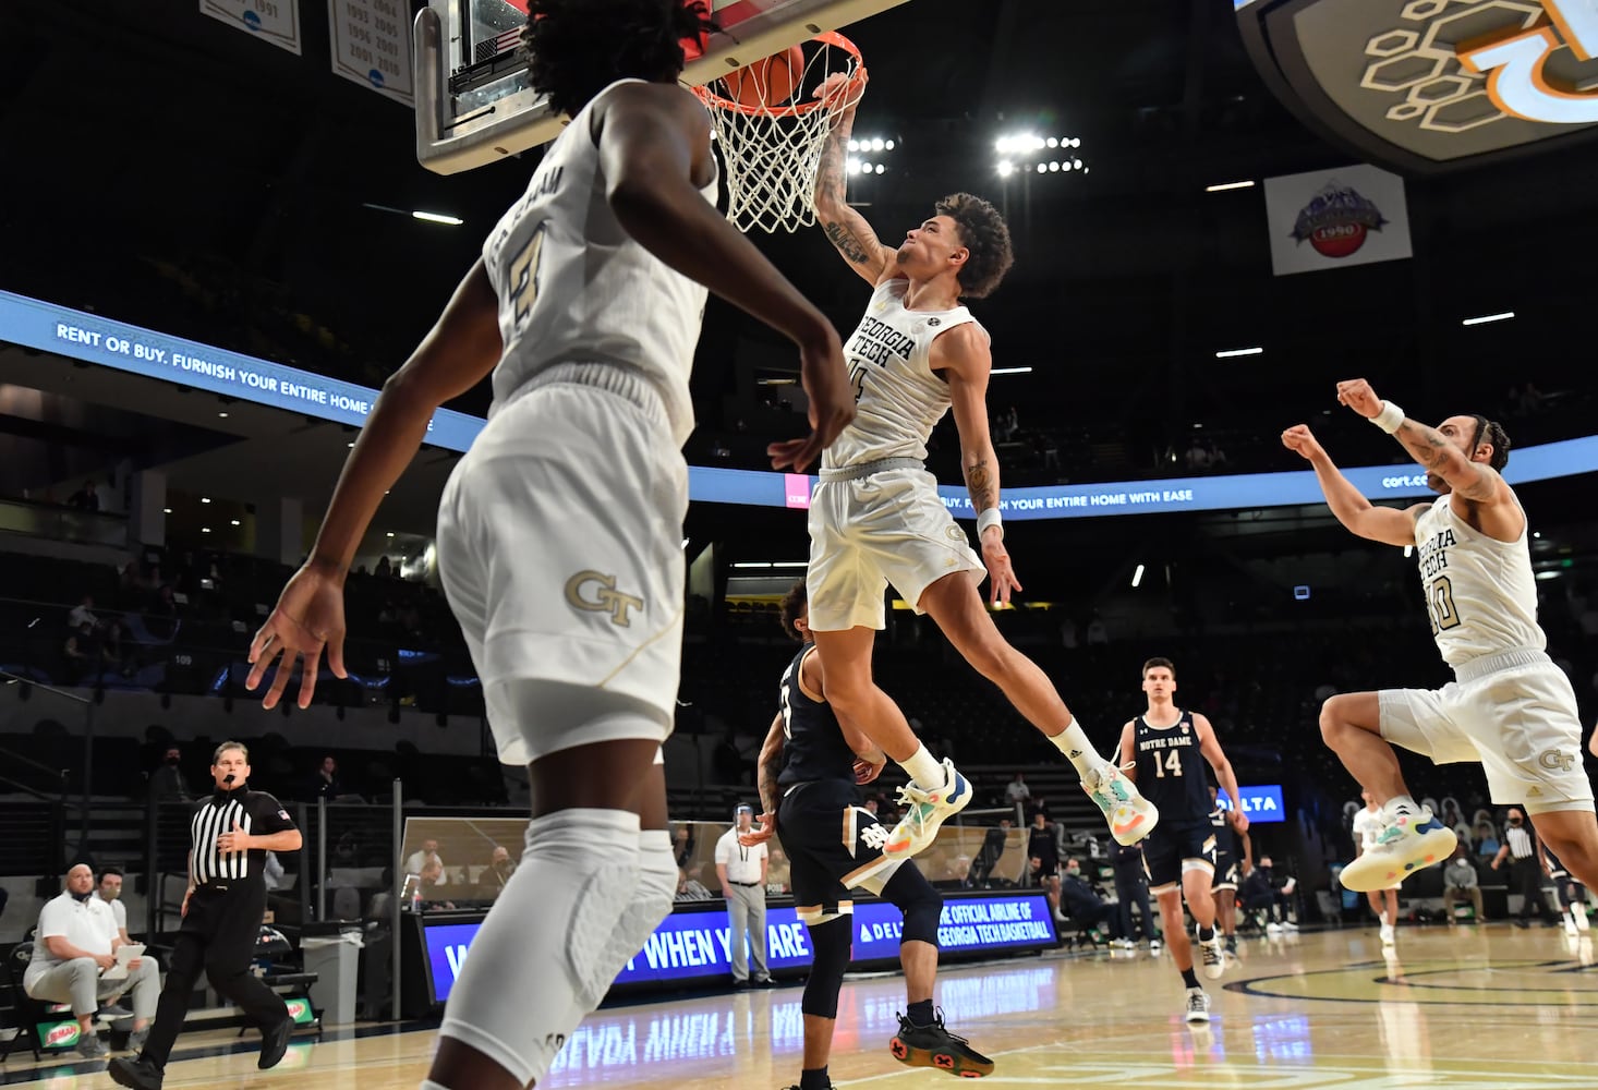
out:
M1143 865L1149 871L1149 892L1160 901L1160 922L1171 957L1187 985L1187 1021L1210 1021L1210 996L1194 975L1194 951L1183 922L1183 897L1198 924L1203 975L1219 980L1226 972L1226 949L1214 929L1214 826L1210 823L1210 778L1203 762L1227 798L1237 796L1232 762L1221 751L1210 721L1183 711L1173 703L1176 668L1170 658L1143 663L1143 692L1149 706L1120 732L1120 764L1136 780L1138 791L1159 807L1160 823L1143 842ZM1238 814L1238 833L1248 829L1248 815Z

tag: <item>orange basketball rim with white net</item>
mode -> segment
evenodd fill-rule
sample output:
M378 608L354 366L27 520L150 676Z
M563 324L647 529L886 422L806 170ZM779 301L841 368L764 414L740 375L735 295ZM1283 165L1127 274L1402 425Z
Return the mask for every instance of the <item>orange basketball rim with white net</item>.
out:
M841 91L826 101L813 97L829 75L839 74L845 77ZM694 88L716 123L727 171L727 219L738 230L759 227L775 235L815 222L821 150L834 118L865 93L865 75L855 43L826 30L805 43L804 75L785 102L746 105L729 86L729 77Z

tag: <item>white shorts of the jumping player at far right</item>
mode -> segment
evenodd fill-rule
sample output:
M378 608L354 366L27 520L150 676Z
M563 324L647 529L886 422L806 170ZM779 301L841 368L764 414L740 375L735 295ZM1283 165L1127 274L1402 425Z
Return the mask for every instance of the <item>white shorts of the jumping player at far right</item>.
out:
M1437 764L1480 762L1497 806L1592 810L1569 678L1540 650L1467 663L1441 689L1382 689L1382 737Z

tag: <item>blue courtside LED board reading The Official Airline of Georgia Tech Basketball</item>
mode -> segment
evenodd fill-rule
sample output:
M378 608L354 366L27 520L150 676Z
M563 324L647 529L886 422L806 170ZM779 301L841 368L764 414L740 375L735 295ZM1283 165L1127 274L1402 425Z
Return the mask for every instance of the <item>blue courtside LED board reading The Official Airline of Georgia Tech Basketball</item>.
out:
M459 917L457 917L459 919ZM425 957L433 978L433 999L444 1002L481 921L422 921ZM853 961L898 959L903 929L900 911L885 901L855 901ZM989 951L1032 951L1055 945L1055 924L1040 890L951 898L938 921L938 946L944 957ZM807 969L810 933L794 908L765 909L765 953L772 970ZM719 911L678 911L668 916L617 975L615 986L658 981L694 981L732 973L732 930Z

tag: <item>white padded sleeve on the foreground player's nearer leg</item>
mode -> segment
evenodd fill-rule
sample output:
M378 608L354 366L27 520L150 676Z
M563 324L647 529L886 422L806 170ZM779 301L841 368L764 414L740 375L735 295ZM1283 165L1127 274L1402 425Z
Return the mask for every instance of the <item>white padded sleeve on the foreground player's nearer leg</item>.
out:
M521 866L455 978L443 1036L521 1085L543 1080L615 978L606 951L638 881L638 815L625 810L561 810L527 825Z

